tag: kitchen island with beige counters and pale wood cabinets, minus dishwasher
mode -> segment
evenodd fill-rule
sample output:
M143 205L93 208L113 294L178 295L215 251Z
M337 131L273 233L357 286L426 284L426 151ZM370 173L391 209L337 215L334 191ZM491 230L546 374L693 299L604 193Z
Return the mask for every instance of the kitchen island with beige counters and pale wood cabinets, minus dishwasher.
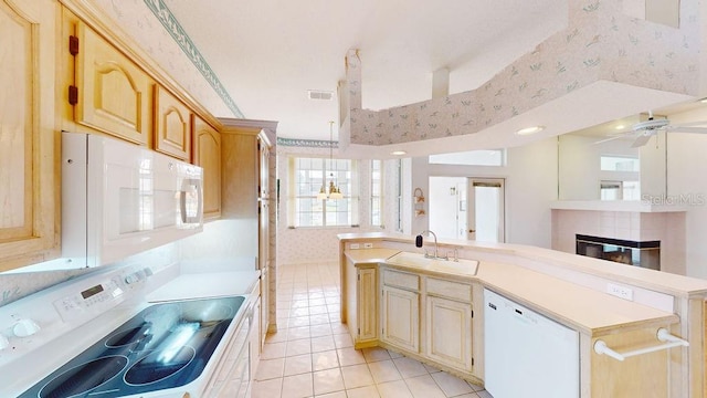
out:
M341 318L356 347L383 346L483 383L489 290L579 334L580 397L704 396L707 281L515 244L441 241L440 256L452 260L433 260L414 237L339 241ZM594 350L598 342L623 354L662 346L662 328L689 346L625 360Z

